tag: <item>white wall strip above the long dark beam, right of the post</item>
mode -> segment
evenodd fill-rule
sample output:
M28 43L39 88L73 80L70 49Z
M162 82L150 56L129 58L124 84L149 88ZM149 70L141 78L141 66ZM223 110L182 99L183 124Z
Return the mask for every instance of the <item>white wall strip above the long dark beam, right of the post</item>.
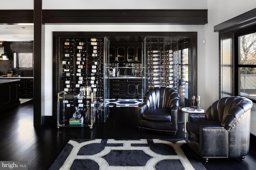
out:
M207 0L42 0L43 10L206 9Z

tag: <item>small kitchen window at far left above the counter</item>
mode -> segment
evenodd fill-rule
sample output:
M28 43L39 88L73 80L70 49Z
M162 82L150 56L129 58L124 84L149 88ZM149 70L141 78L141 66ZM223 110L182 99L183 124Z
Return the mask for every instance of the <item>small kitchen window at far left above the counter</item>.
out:
M33 53L14 53L14 68L33 68Z

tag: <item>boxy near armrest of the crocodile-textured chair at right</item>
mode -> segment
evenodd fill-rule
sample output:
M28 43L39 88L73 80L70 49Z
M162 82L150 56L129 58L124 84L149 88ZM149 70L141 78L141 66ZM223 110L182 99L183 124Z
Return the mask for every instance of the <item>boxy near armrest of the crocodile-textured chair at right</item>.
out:
M199 143L203 157L228 156L228 131L221 125L201 125Z

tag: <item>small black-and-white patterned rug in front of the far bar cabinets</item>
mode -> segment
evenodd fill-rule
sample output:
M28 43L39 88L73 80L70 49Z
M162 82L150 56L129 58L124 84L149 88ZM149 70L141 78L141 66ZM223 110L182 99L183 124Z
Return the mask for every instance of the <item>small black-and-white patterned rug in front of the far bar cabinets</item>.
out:
M106 99L106 106L109 107L138 107L142 99Z

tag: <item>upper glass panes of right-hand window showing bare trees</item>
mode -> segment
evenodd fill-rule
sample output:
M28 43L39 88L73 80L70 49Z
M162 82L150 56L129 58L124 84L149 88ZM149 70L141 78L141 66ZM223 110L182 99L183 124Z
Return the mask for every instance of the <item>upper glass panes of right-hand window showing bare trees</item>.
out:
M256 33L238 36L239 95L256 100Z

